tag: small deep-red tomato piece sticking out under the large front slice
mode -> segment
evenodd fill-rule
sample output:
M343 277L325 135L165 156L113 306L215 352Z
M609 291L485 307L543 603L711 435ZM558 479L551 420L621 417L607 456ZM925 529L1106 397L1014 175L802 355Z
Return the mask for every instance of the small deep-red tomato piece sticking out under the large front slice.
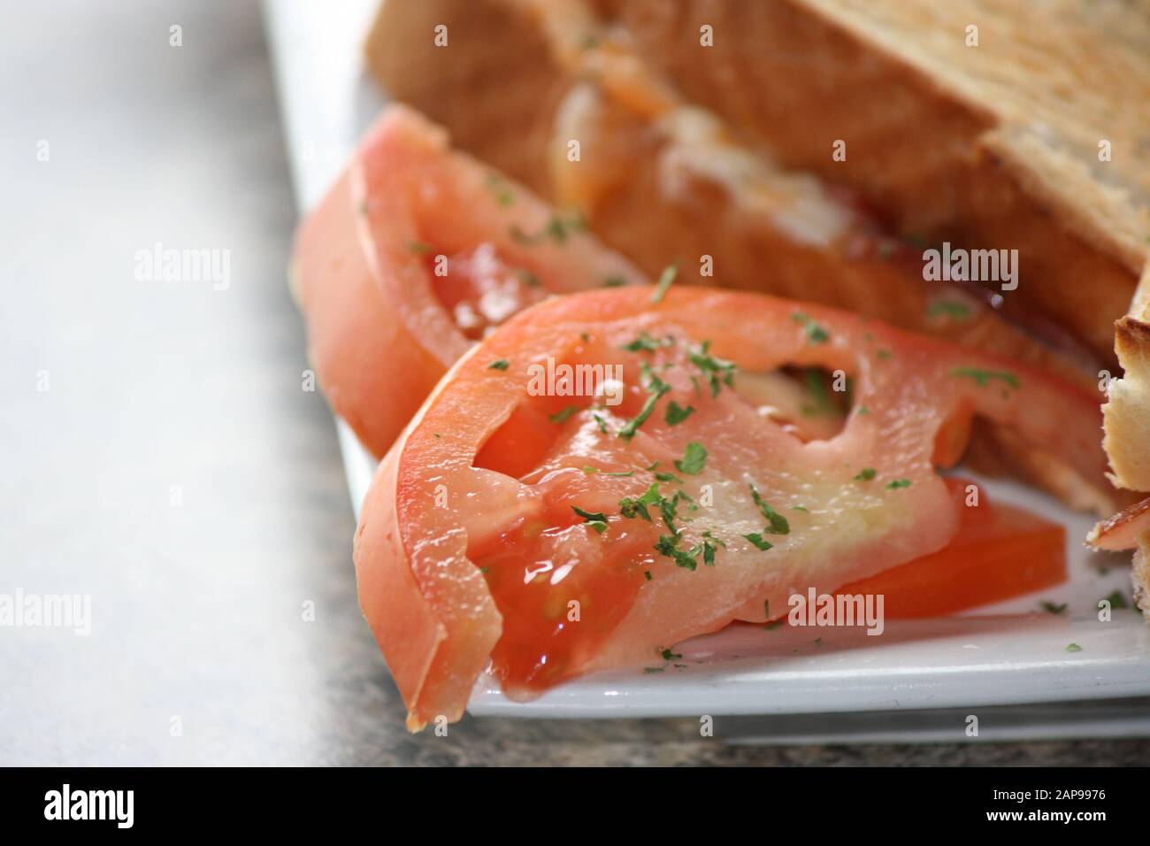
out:
M965 501L967 482L948 479ZM836 594L883 596L888 619L944 617L1022 596L1066 580L1066 529L1013 505L963 508L958 534L945 548Z

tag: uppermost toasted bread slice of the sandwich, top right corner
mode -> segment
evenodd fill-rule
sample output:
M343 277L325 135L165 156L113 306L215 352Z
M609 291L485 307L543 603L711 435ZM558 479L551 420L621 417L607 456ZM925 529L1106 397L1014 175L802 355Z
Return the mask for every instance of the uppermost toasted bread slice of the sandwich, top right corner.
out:
M1144 12L1082 0L601 6L687 96L782 163L859 190L899 233L1018 249L1011 299L1111 349L1150 236Z

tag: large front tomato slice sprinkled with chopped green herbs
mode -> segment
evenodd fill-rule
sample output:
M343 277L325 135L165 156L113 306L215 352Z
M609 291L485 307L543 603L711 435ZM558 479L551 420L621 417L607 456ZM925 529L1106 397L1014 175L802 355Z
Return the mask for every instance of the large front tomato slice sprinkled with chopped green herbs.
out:
M1101 483L1097 398L1041 372L761 295L653 299L588 292L513 318L381 465L355 565L412 729L458 719L489 664L527 698L937 552L963 515L935 467L975 414ZM743 398L737 373L784 365L853 376L841 433L804 441Z

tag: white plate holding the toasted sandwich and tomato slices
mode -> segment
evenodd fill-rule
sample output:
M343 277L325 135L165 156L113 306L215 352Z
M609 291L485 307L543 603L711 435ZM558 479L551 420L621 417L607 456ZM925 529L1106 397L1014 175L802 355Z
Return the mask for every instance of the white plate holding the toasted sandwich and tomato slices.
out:
M375 0L266 6L297 196L309 208L383 102L361 60ZM343 421L338 428L358 516L375 463ZM1150 630L1133 611L1116 611L1109 623L1097 618L1099 599L1116 589L1129 594L1128 557L1083 549L1089 518L1025 487L982 481L995 501L1067 527L1067 584L961 617L888 622L881 638L860 630L734 626L677 647L685 669L596 673L526 704L509 702L482 679L469 710L534 717L802 715L1150 695ZM1041 600L1068 609L1053 616L1040 610ZM1081 651L1067 653L1072 642ZM1126 712L1122 732L1150 733L1150 708L1145 715L1130 721ZM1094 731L1081 722L1065 725L1073 727L1044 736L1106 733L1102 723Z

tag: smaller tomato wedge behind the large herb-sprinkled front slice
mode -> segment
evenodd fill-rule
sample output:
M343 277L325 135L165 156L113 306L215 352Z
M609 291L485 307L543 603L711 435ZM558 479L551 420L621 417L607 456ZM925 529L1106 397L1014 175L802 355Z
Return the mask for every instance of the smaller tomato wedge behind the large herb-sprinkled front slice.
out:
M292 277L320 383L376 456L491 327L549 292L644 281L402 106L300 227Z

